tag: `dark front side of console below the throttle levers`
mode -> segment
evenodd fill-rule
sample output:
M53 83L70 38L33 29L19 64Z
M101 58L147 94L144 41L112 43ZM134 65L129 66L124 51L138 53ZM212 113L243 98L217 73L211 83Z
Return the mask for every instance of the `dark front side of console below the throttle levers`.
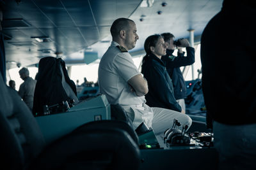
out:
M218 169L214 147L173 147L141 150L140 169Z

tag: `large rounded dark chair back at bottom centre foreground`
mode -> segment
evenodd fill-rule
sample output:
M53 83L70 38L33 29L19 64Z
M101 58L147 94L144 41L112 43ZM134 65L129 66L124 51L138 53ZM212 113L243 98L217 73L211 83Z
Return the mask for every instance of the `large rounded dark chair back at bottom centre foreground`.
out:
M127 125L113 120L81 125L49 145L31 169L138 169L140 149L120 124Z

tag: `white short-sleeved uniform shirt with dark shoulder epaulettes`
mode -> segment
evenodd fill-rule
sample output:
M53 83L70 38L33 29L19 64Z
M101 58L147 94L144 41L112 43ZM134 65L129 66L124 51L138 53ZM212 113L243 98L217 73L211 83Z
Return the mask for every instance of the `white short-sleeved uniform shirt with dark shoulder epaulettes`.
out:
M100 93L105 94L110 104L136 106L145 103L145 97L131 92L127 83L133 76L141 74L128 52L121 52L112 41L99 64Z

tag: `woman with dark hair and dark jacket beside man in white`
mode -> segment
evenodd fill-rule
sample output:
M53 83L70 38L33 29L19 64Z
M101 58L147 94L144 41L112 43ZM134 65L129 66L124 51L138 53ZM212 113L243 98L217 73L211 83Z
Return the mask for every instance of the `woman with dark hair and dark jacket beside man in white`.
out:
M185 113L175 100L173 85L168 75L162 55L166 55L166 46L161 35L148 36L144 43L146 52L142 60L141 73L148 81L148 94L145 95L148 106L166 108Z

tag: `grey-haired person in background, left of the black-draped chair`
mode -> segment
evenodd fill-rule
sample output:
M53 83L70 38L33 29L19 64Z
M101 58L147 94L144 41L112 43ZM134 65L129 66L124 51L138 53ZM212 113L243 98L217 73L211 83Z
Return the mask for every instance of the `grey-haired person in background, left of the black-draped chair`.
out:
M24 82L20 85L18 93L23 101L27 104L28 108L32 111L36 80L29 77L29 71L25 67L20 69L19 74L20 78L24 80Z

